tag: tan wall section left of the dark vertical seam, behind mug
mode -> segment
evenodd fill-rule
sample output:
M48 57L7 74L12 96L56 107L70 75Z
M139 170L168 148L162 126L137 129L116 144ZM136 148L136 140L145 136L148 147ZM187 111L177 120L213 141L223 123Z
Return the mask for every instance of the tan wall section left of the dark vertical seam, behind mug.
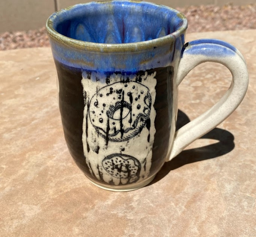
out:
M0 1L0 32L41 28L53 12L54 0Z

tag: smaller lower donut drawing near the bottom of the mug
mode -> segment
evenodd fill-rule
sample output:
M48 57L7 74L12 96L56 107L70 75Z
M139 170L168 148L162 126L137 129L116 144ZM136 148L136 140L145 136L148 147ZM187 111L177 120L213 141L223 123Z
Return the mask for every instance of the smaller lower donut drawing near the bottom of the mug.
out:
M111 154L103 159L102 166L113 177L128 179L128 182L134 182L140 176L140 162L133 156Z

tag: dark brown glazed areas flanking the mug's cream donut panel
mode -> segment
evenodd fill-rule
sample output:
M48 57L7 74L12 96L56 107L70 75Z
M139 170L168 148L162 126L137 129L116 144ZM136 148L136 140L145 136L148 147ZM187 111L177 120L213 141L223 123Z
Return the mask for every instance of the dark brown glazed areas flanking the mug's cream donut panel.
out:
M79 168L91 179L99 182L90 173L83 151L82 124L84 119L84 95L81 85L81 69L65 66L56 60L55 65L59 82L59 107L67 147ZM172 125L174 71L172 66L168 66L150 69L147 72L148 74L156 72L155 78L157 79L154 103L156 117L155 121L151 121L151 123L154 122L156 129L149 174L149 176L152 176L161 168L168 152Z

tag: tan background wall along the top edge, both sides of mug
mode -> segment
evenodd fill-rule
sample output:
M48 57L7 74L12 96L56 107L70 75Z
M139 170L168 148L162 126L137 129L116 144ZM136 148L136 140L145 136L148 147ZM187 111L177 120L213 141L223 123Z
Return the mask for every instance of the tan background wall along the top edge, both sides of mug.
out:
M230 0L148 0L173 8L212 4L223 6ZM90 0L2 0L0 1L0 33L38 29L53 12ZM256 0L232 0L234 5L256 3ZM255 16L256 17L256 16Z

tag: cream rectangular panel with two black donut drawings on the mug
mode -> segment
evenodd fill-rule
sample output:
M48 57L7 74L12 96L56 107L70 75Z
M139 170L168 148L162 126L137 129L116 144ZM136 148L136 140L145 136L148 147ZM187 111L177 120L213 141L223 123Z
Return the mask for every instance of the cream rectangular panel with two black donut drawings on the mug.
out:
M111 185L146 179L156 133L156 72L83 71L81 84L82 142L91 175Z

